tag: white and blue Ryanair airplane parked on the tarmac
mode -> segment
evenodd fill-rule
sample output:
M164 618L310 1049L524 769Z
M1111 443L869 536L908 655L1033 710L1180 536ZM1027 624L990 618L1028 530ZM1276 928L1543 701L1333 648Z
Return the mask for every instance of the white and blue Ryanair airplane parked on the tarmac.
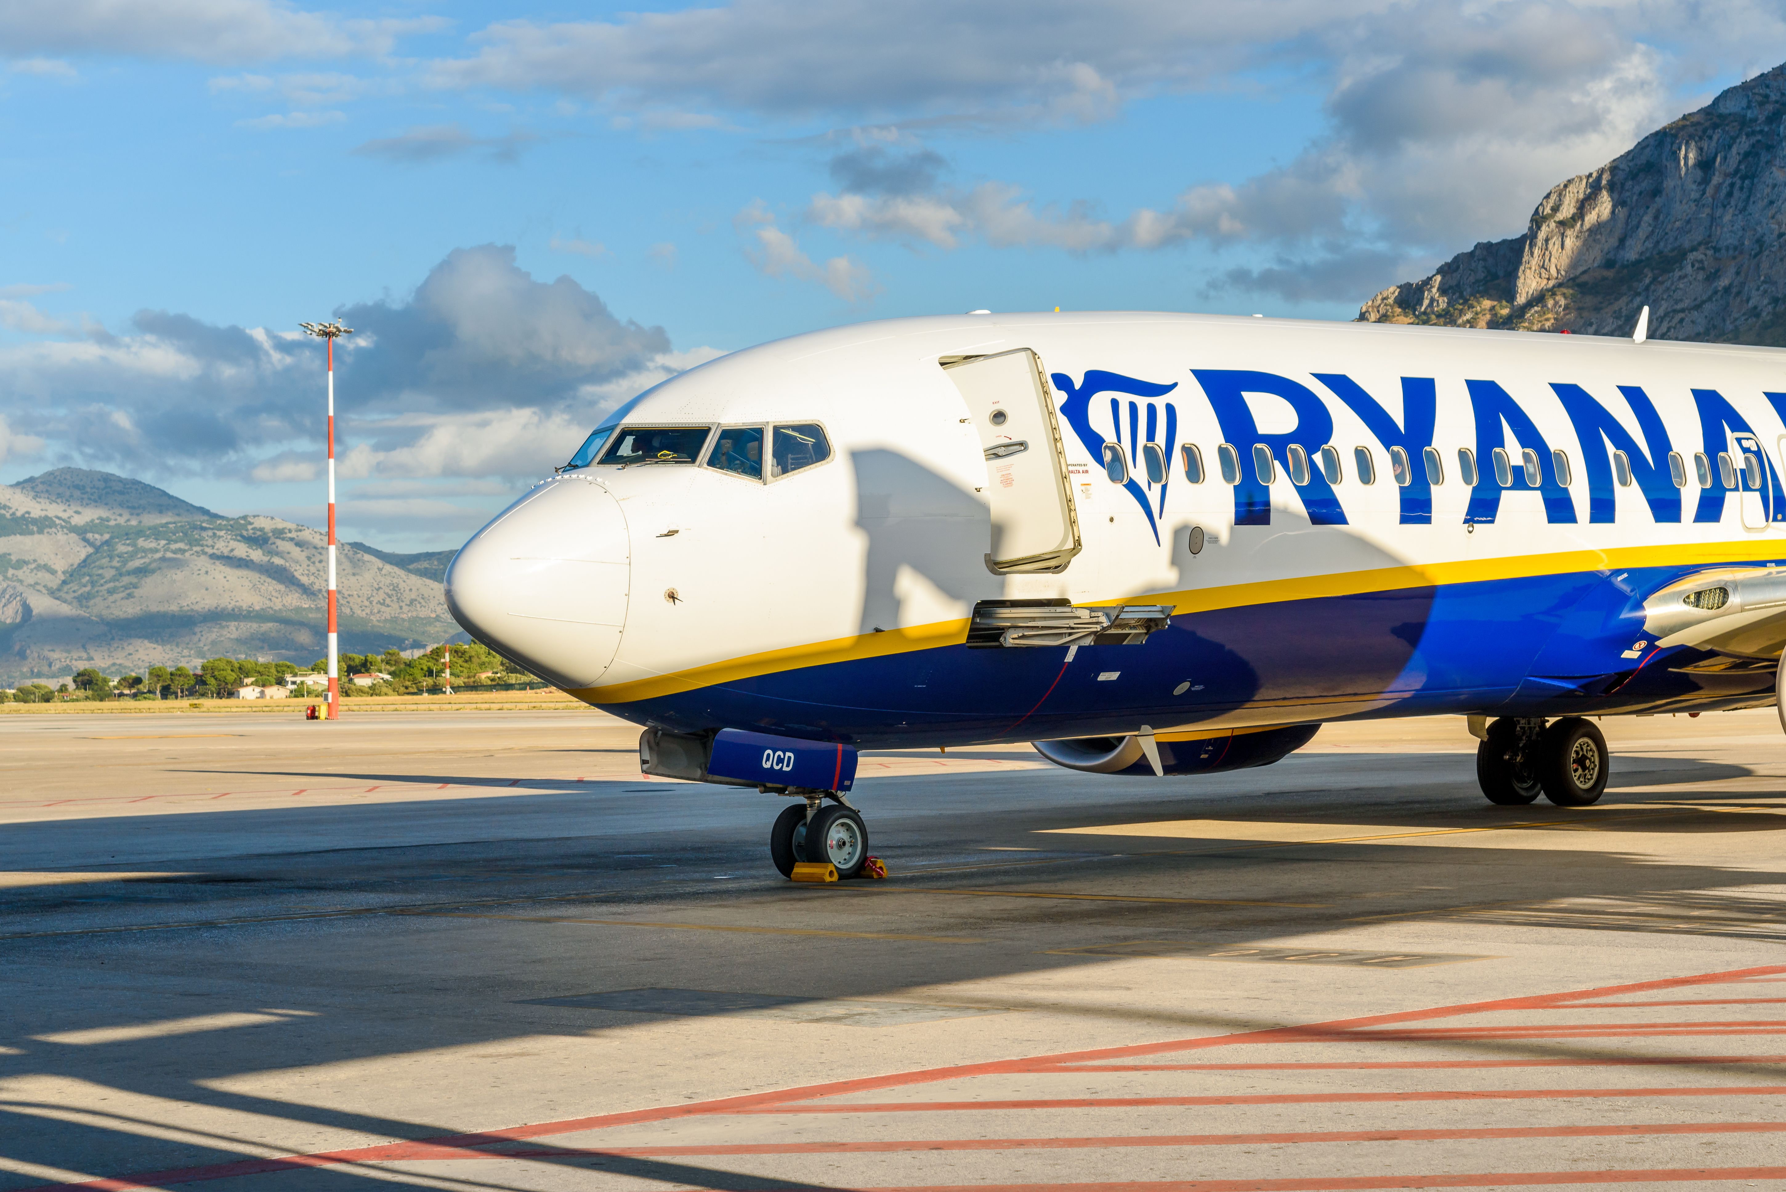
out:
M1270 766L1463 716L1497 805L1584 807L1590 717L1768 707L1786 352L1200 314L906 318L734 352L604 418L446 571L468 633L791 796L857 876L859 749ZM1782 708L1786 724L1786 708Z

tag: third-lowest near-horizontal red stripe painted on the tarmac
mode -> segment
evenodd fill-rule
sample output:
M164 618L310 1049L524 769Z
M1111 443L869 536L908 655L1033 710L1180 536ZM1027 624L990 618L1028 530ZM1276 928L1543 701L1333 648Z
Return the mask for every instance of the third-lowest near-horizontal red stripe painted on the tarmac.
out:
M757 1113L961 1113L963 1110L1134 1110L1161 1105L1368 1105L1382 1101L1572 1101L1588 1097L1777 1097L1786 1085L1711 1089L1434 1089L1425 1092L1250 1092L1204 1097L1027 1097L1016 1101L850 1101L725 1110Z

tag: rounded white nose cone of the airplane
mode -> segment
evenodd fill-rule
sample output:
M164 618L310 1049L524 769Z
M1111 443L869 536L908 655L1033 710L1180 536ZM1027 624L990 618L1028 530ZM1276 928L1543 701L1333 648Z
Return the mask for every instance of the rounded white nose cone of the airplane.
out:
M627 519L582 476L548 480L446 567L446 608L472 637L547 682L593 687L627 623Z

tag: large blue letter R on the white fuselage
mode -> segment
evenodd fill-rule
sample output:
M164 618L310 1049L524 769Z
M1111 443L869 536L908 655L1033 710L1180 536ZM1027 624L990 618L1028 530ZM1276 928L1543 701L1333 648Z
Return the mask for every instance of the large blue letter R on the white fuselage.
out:
M1309 455L1318 455L1322 446L1334 435L1334 416L1327 409L1327 403L1313 389L1288 377L1211 368L1193 368L1191 375L1204 387L1204 396L1209 398L1209 405L1216 412L1216 421L1222 423L1222 437L1238 446L1248 460L1252 455L1250 448L1263 443L1270 448L1277 466L1288 473L1289 444L1300 446ZM1261 432L1252 409L1247 405L1248 393L1261 393L1288 401L1297 412L1295 428L1281 434ZM1334 496L1332 485L1327 484L1327 476L1322 475L1320 468L1309 469L1307 484L1289 485L1289 489L1302 500L1309 525L1347 525L1345 510L1340 509L1340 498ZM1272 525L1272 491L1257 476L1257 466L1241 468L1239 484L1234 485L1234 525Z

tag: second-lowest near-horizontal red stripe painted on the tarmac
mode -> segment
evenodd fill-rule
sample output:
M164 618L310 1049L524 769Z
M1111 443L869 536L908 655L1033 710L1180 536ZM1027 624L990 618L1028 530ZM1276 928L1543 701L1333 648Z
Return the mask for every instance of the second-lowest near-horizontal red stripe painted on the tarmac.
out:
M898 1151L1095 1151L1100 1147L1275 1146L1289 1142L1452 1142L1470 1138L1622 1138L1629 1135L1768 1135L1786 1122L1663 1122L1650 1126L1481 1126L1475 1130L1306 1130L1259 1135L1122 1135L1114 1138L913 1138L889 1142L732 1142L711 1146L547 1147L477 1151L477 1158L672 1158L697 1155L877 1155Z

